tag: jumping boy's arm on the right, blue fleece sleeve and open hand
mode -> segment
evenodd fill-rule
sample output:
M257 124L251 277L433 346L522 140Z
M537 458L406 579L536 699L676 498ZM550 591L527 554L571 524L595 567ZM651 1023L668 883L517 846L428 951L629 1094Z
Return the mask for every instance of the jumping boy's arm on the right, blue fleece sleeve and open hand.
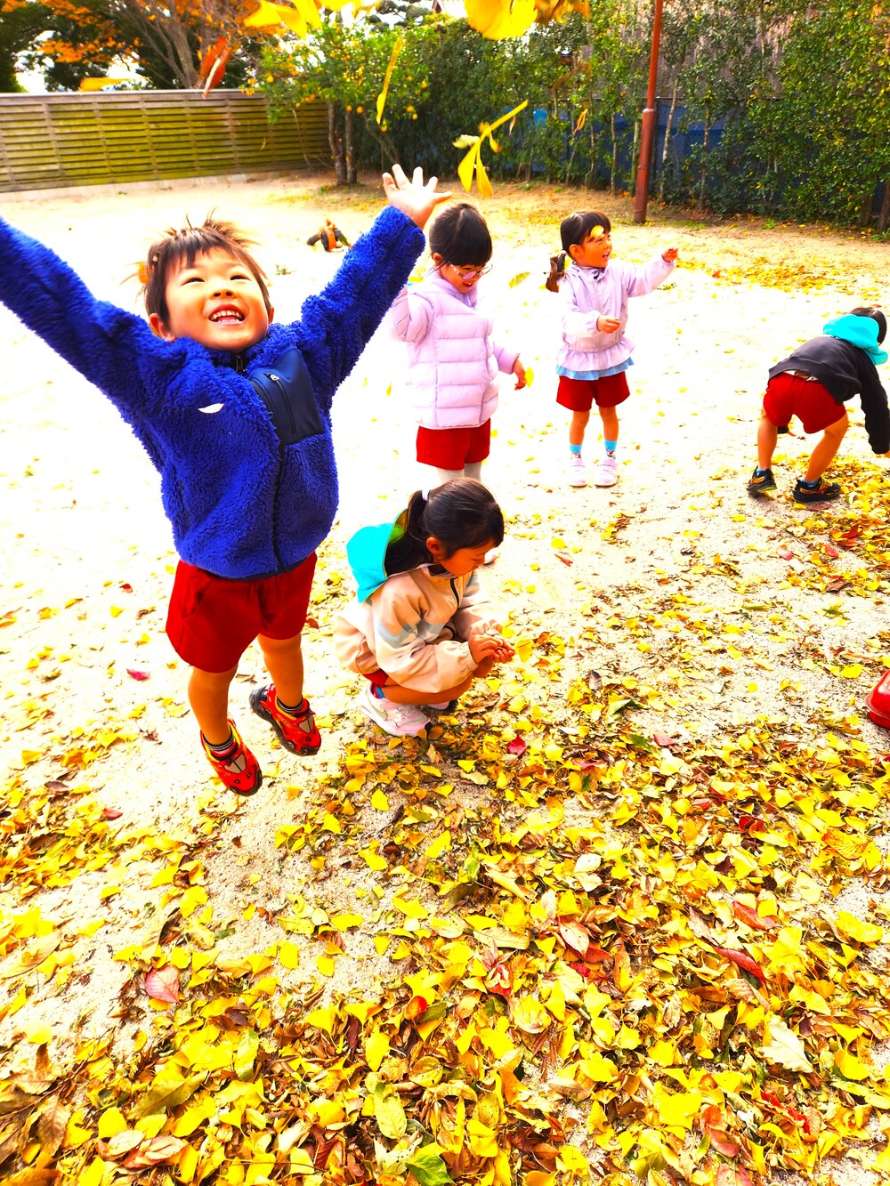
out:
M333 280L306 300L294 323L325 408L411 275L424 249L426 219L450 197L436 192L434 177L424 184L422 171L415 168L409 181L398 165L383 174L383 189L389 208L357 240Z

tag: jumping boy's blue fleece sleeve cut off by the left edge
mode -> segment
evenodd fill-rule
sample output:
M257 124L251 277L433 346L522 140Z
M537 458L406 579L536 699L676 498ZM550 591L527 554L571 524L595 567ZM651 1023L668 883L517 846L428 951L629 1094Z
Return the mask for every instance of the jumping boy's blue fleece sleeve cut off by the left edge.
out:
M152 332L142 318L93 295L49 247L0 218L0 301L75 370L109 395L132 387Z

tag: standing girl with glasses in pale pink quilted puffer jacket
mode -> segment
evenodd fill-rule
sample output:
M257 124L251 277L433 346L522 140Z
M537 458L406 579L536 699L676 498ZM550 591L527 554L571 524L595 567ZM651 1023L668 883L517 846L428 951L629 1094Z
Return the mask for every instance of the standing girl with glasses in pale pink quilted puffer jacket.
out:
M418 461L433 470L430 485L479 479L489 454L497 372L526 385L519 355L496 345L491 318L477 307L477 281L489 270L491 236L485 219L458 202L430 231L433 267L419 285L402 288L390 313L408 343L407 385L418 417Z

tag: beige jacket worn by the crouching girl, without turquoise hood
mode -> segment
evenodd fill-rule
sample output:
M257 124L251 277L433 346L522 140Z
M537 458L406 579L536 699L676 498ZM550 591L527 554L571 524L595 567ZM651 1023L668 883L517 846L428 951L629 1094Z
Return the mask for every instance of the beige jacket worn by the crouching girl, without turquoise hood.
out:
M364 600L354 599L333 629L337 658L351 671L386 671L412 691L439 691L476 670L466 642L498 633L476 573L452 576L438 565L396 573Z

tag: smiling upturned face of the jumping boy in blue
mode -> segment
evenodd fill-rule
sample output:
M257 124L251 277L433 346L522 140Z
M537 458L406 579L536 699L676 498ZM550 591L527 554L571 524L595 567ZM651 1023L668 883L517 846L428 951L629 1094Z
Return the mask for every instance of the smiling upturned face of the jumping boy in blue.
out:
M197 255L172 272L165 292L167 319L152 313L148 321L167 342L191 338L211 350L237 353L262 340L273 310L250 269L217 248Z

